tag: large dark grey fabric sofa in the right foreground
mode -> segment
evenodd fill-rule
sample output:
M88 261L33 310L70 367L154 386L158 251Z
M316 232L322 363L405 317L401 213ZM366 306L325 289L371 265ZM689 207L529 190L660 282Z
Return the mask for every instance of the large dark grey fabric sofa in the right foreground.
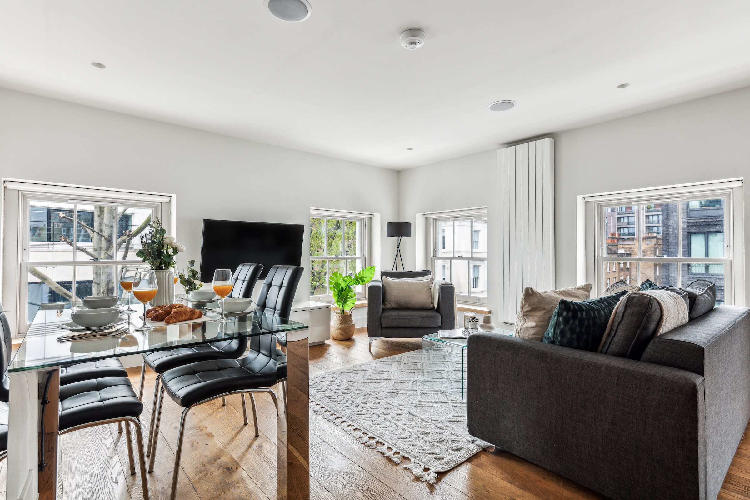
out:
M713 500L750 418L748 313L717 307L640 361L474 334L469 433L612 499Z

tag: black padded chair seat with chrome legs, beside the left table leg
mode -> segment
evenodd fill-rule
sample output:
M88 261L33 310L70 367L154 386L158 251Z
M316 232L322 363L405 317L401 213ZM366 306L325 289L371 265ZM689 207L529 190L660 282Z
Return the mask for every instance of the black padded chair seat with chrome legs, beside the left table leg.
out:
M75 430L124 422L131 475L135 474L136 470L130 425L135 427L142 495L144 500L148 500L148 474L145 472L143 432L139 419L142 411L143 403L133 391L130 380L125 377L83 380L60 388L60 436Z

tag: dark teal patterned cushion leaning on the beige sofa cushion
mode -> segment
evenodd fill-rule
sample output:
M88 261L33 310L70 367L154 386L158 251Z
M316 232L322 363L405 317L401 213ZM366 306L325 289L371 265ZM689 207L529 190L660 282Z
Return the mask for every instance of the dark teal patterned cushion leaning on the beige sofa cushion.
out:
M623 290L587 301L559 301L541 341L596 352L614 307L625 295Z

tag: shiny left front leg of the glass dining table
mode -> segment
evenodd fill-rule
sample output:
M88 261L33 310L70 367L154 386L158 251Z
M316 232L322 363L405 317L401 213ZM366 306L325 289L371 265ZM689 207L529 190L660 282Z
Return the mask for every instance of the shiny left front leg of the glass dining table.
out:
M49 376L51 375L51 376ZM7 442L7 500L55 500L57 497L58 406L60 372L15 372L10 376ZM49 382L48 382L49 380ZM49 384L41 433L41 401ZM40 445L46 465L40 468Z

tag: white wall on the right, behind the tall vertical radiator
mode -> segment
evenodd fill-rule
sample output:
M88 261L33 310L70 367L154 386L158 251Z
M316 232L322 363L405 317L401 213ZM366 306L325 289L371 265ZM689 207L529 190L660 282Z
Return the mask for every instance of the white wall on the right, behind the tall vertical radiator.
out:
M748 117L750 87L553 134L556 286L577 284L577 195L746 177ZM499 198L497 169L493 149L402 171L401 220L414 222L419 213L487 205L491 231ZM467 186L475 189L474 196L466 192ZM750 188L745 189L744 201L745 220L750 221ZM407 268L416 262L413 240L404 240ZM490 256L499 258L492 243L490 238ZM745 231L746 249L748 243L750 231ZM745 295L750 297L748 268ZM499 286L493 275L490 267L488 305L495 312Z

